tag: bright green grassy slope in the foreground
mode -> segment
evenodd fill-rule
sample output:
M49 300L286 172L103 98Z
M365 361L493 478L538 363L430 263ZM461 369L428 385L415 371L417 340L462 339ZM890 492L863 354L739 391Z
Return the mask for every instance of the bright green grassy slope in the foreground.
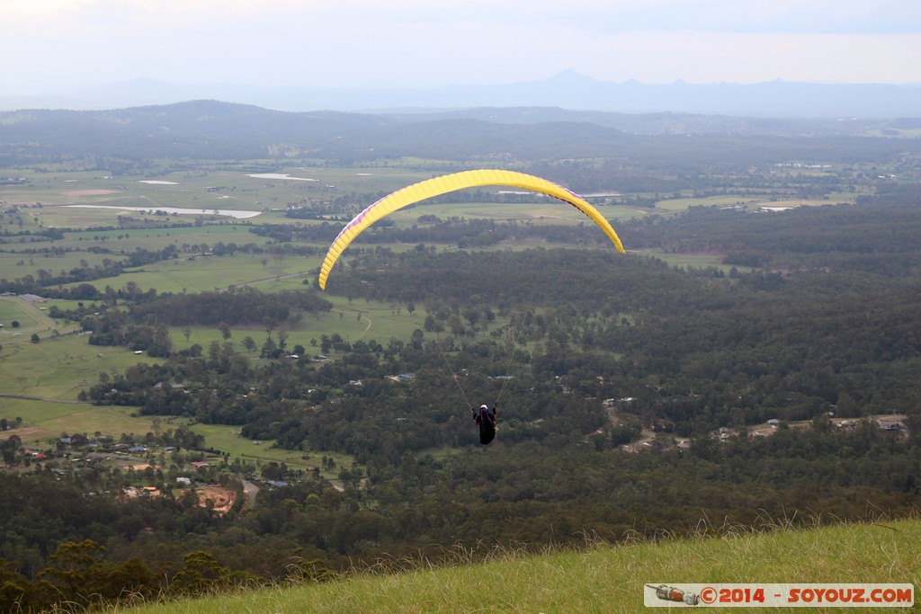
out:
M644 585L675 583L912 583L912 610L921 598L918 519L781 528L761 534L740 531L717 539L661 540L541 556L503 551L482 563L469 559L459 552L457 564L450 567L358 573L326 584L244 591L123 611L640 612L646 609Z

